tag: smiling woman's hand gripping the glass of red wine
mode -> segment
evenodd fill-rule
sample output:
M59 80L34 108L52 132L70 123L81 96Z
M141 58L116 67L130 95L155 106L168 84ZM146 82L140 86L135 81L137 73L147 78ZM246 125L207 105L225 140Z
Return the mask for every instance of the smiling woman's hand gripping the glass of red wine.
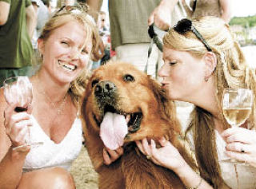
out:
M16 106L17 104L10 104L4 111L6 135L9 136L13 147L26 144L27 127L32 126L30 114L28 112L15 112Z

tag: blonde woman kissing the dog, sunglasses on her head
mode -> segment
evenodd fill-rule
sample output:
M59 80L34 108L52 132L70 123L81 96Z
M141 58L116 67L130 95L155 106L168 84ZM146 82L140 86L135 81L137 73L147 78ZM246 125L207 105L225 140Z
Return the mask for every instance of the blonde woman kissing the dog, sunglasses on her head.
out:
M186 137L194 150L194 171L170 142L138 141L154 163L176 172L190 188L255 188L255 70L247 64L230 27L220 18L183 19L163 38L164 65L158 75L172 100L194 104ZM222 112L225 88L251 89L254 104L241 127L230 128ZM247 129L249 128L249 129ZM223 161L235 159L242 163Z

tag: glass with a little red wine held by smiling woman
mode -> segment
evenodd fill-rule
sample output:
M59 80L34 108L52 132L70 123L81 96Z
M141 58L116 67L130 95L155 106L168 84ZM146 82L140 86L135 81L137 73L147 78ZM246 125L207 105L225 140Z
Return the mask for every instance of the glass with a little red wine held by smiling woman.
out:
M14 108L15 112L27 111L33 99L33 88L29 77L9 77L3 82L3 86L7 104L18 104L17 107ZM26 133L26 144L15 147L14 149L25 146L37 147L43 144L42 142L32 143L30 138L30 127L28 127Z

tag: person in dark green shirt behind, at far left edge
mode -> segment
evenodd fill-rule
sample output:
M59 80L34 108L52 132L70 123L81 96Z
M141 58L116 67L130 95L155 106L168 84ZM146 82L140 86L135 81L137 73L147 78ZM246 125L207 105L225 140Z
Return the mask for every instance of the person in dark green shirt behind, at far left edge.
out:
M0 86L7 77L33 72L31 38L36 14L30 0L0 0Z

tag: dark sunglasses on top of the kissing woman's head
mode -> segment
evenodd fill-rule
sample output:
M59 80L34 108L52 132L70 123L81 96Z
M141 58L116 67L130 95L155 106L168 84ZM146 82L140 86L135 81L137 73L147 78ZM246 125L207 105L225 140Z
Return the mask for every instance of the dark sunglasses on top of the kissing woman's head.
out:
M192 25L192 22L189 19L182 19L180 20L175 26L174 26L174 31L180 33L180 34L184 34L188 31L191 31L195 34L196 37L198 37L198 39L200 41L202 41L202 44L206 46L206 49L208 51L213 51L210 48L210 45L208 45L208 43L206 42L206 40L202 37L202 35L198 32L198 30L196 30L196 28Z

